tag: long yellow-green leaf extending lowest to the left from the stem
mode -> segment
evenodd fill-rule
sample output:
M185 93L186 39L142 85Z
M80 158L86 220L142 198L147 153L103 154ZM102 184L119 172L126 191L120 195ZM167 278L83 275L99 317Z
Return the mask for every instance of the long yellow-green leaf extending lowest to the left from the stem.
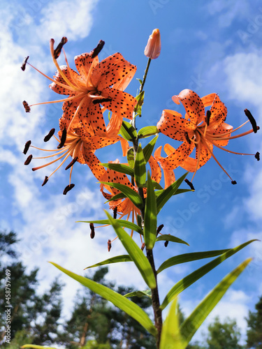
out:
M54 262L51 262L51 264L61 270L61 272L63 272L64 274L70 276L72 279L75 279L79 283L82 283L82 285L89 288L89 290L92 290L92 292L95 292L101 297L107 299L109 302L112 302L112 304L117 306L117 308L121 309L126 314L137 320L143 327L145 327L145 329L147 329L148 332L153 334L153 336L157 334L157 329L154 327L147 313L145 313L145 311L143 311L140 306L131 302L130 299L119 295L119 293L110 290L110 288L104 285L100 285L93 280L87 279L84 276L80 276L78 274L74 274L73 272L60 267Z

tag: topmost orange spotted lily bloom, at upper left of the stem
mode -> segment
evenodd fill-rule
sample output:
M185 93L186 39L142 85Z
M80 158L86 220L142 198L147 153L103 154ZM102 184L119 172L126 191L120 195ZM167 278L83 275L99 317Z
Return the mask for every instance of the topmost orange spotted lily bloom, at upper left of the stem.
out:
M61 49L64 51L63 45L66 42L67 39L62 38L61 43L54 50L54 39L50 40L52 59L57 67L57 74L54 78L48 77L34 66L32 67L52 81L50 89L57 92L57 94L68 95L68 97L58 101L33 105L63 102L64 118L73 122L75 117L78 117L80 123L87 128L90 135L110 138L112 133L115 134L116 132L112 127L115 119L111 119L106 128L102 112L108 109L115 113L115 118L118 120L117 125L120 124L120 126L123 117L131 119L133 108L136 105L136 98L126 94L124 89L136 73L136 66L126 61L120 53L112 54L112 56L103 59L99 63L97 55L104 44L101 40L92 52L75 57L77 73L70 68L65 52L66 66L59 66L57 63L57 57ZM29 64L27 60L28 57L21 67L22 70L24 70L25 64ZM102 109L101 105L103 106ZM29 111L31 106L27 105L26 111Z

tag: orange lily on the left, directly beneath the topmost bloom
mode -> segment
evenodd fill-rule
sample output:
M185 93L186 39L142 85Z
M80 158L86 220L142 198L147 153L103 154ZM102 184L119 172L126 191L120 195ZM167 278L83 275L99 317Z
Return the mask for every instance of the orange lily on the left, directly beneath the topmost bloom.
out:
M54 172L56 172L61 167L61 165L65 163L69 156L71 156L73 160L66 166L66 170L68 170L69 168L71 168L71 170L69 176L69 184L68 186L66 186L64 194L66 194L74 186L74 184L71 184L71 174L73 170L73 165L76 161L78 161L78 163L87 164L90 170L92 170L94 176L97 179L101 180L101 177L105 173L105 169L103 168L103 166L100 165L99 159L94 155L96 149L101 149L107 145L114 144L120 141L122 143L123 156L126 156L128 142L120 136L115 136L115 138L113 139L100 137L99 135L90 135L87 132L87 130L81 126L79 120L78 122L77 120L75 120L75 122L71 124L71 121L68 121L67 119L62 117L59 123L59 138L54 136L54 128L52 128L50 133L44 139L46 142L50 140L52 136L54 136L54 138L59 142L57 149L40 149L38 147L31 146L31 141L27 142L24 148L24 154L27 153L29 147L33 147L42 151L53 152L53 154L50 154L49 156L43 156L38 158L52 158L54 156L57 157L49 163L46 163L45 165L32 168L33 171L45 168L48 165L51 165L52 163L56 163L57 161L61 160L61 163L59 163L58 167L49 176L45 177L42 186L48 182L48 179L52 176L52 174L54 174ZM68 128L68 124L71 124L70 128ZM32 158L33 156L29 155L27 161L25 161L24 164L29 165Z

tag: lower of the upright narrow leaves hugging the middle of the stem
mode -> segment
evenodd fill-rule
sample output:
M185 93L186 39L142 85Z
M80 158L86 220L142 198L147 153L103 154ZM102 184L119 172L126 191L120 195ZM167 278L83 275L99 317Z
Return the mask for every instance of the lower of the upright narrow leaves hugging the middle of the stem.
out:
M147 198L145 199L145 225L144 239L147 250L152 250L157 238L157 200L154 195L154 187L147 172Z

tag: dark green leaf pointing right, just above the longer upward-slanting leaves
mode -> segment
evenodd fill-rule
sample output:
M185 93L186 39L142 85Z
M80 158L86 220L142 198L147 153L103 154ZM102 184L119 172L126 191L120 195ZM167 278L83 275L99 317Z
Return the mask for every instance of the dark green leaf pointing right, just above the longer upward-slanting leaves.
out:
M215 257L216 255L221 255L226 251L229 251L229 248L227 248L226 250L192 252L192 253L184 253L182 255L175 255L174 257L168 258L168 260L165 260L165 262L163 262L160 265L159 269L157 269L157 274L159 274L160 272L163 272L163 270L169 267L173 267L173 265L192 262L194 260L201 260L203 258Z

